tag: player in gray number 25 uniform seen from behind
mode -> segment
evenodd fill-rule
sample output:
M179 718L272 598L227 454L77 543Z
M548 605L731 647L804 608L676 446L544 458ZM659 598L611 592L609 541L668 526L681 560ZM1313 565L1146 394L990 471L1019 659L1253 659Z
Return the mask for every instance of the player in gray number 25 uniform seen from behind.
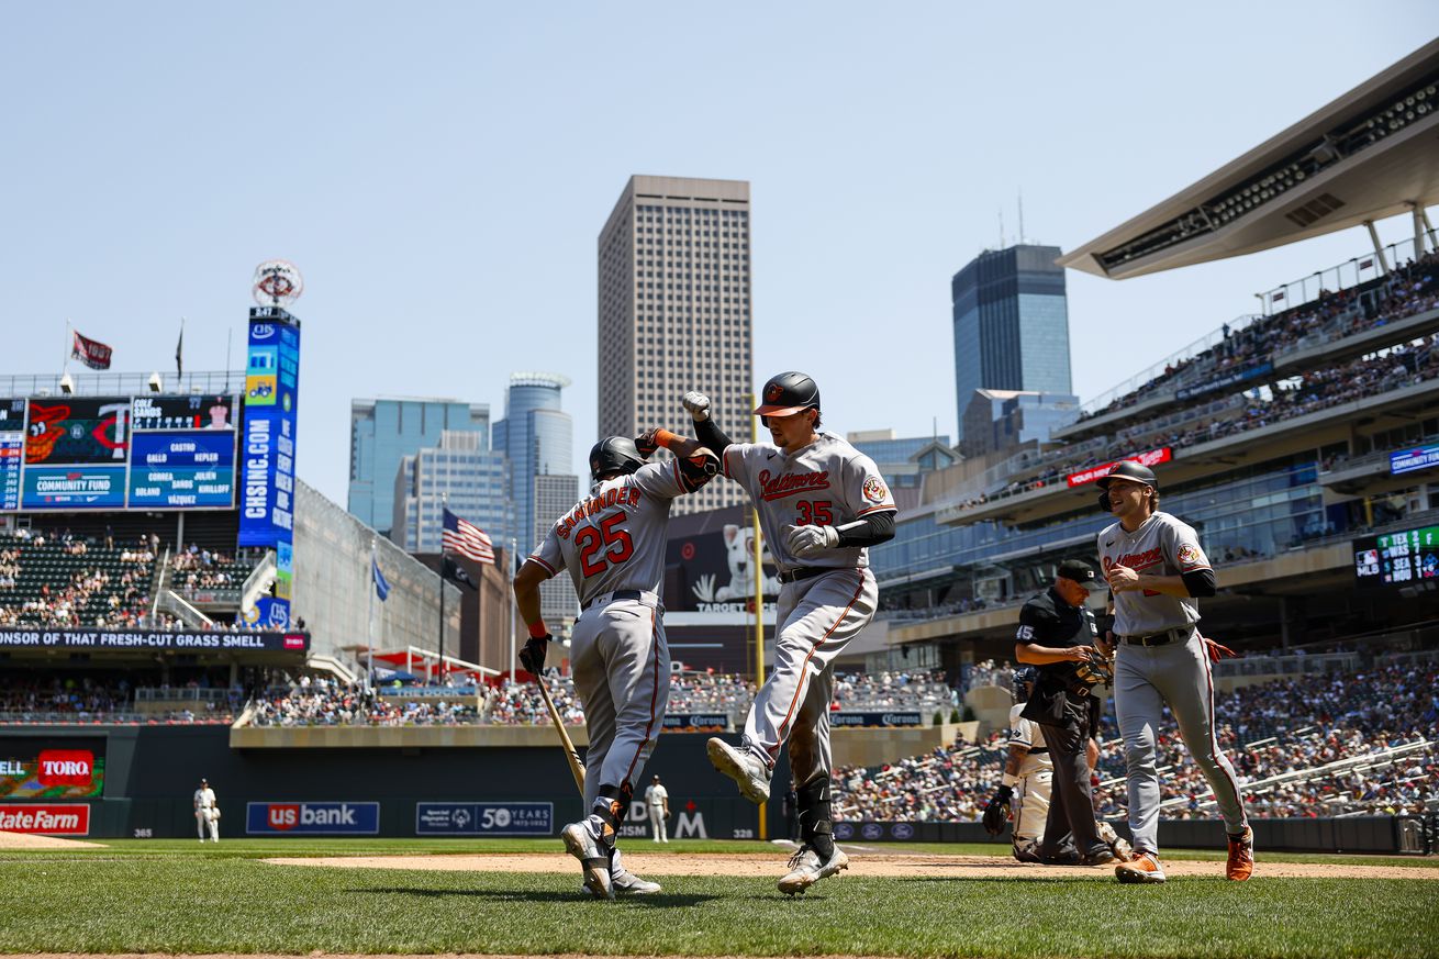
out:
M676 456L646 464L655 445ZM584 886L596 899L661 888L627 873L614 844L669 700L661 605L669 507L718 468L709 451L668 431L652 431L640 441L602 439L590 449L590 495L550 527L515 575L515 599L530 629L519 661L531 672L544 668L550 641L540 613L540 583L566 569L580 596L570 662L590 733L584 806L591 812L560 835L580 860Z

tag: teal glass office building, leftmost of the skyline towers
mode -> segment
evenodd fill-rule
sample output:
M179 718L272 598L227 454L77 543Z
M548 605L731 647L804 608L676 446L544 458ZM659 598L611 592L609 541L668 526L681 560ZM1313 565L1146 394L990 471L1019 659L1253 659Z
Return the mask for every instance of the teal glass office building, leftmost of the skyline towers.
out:
M489 449L489 405L452 399L351 400L350 514L389 536L400 461L439 445L446 429L478 433L481 449Z

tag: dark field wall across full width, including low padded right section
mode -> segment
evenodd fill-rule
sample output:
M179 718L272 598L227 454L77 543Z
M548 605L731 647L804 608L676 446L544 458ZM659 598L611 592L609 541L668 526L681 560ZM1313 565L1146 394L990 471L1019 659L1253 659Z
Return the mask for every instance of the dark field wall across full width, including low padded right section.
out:
M259 731L259 730L256 730ZM537 730L530 730L537 731ZM548 731L548 730L545 730ZM548 739L548 737L545 737ZM645 770L669 791L671 838L761 838L758 809L738 798L705 756L707 733L665 733ZM59 824L52 834L94 838L196 835L191 796L201 776L222 811L222 838L245 835L557 835L581 814L557 744L530 736L508 746L232 747L229 726L10 726L0 727L0 762L36 750L89 750L104 767L104 791L55 786L27 799L0 796L0 828ZM581 747L583 750L583 747ZM781 755L766 838L786 835L780 799L789 783ZM59 795L65 792L66 795ZM643 783L640 783L643 792ZM632 838L649 824L635 808ZM1255 819L1258 848L1314 852L1423 852L1439 845L1439 818L1351 816ZM1125 824L1115 828L1127 835ZM840 822L852 842L991 842L977 822ZM1161 821L1164 848L1223 848L1216 821Z

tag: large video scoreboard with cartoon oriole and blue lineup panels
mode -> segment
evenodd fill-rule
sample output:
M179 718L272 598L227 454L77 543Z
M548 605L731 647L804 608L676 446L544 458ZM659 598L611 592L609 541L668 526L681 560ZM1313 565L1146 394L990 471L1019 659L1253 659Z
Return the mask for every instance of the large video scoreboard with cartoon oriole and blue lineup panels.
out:
M0 399L0 511L235 508L235 396Z

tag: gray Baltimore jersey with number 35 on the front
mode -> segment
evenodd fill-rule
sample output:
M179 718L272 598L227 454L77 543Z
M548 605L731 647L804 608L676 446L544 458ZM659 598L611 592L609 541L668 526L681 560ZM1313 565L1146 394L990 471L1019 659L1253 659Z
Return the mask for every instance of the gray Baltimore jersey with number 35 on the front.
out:
M822 432L793 455L773 444L732 444L722 459L724 475L754 500L760 528L780 569L869 566L869 550L862 546L825 550L804 559L784 549L786 526L843 526L895 508L894 494L869 456L839 436Z

